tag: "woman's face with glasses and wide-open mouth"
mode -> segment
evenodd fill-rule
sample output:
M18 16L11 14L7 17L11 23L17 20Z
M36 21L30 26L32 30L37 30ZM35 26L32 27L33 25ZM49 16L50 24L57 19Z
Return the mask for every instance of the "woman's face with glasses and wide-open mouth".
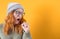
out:
M13 16L14 16L14 18L15 18L15 23L16 23L16 24L18 24L19 21L22 19L22 17L23 17L23 12L24 12L24 11L23 11L22 9L17 9L17 10L14 11Z

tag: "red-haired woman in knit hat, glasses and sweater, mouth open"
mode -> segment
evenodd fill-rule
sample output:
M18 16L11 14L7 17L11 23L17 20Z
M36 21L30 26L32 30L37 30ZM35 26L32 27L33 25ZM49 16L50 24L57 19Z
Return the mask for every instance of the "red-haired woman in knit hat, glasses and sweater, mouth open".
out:
M1 39L31 39L29 25L23 18L24 9L19 3L10 3L5 24L0 24Z

